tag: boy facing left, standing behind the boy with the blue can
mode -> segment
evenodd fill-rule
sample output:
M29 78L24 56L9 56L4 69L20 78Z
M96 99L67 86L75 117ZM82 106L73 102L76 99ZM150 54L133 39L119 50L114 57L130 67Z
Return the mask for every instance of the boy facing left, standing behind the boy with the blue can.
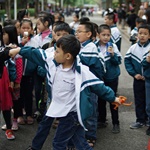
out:
M115 24L116 22L114 13L107 13L104 19L105 23L110 26L111 29L110 42L115 43L118 47L118 50L121 51L121 33Z

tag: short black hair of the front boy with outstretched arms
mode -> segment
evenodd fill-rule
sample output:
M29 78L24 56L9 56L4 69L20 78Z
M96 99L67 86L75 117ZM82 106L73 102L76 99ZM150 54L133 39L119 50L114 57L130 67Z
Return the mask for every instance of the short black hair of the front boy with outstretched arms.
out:
M74 35L65 35L56 42L57 47L61 47L64 53L70 53L75 59L80 52L80 42Z

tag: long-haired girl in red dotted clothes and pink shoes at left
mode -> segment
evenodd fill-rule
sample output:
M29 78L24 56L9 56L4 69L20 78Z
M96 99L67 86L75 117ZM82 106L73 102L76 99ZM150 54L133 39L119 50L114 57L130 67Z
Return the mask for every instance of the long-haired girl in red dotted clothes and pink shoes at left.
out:
M12 36L13 35L13 36ZM18 45L18 35L17 30L14 25L8 25L3 28L3 42L5 46L8 46L10 43ZM16 67L16 79L14 81L14 87L12 91L12 100L13 100L13 109L14 109L14 118L12 123L12 130L18 130L18 124L17 124L17 118L18 115L18 109L21 107L19 106L18 99L20 97L20 82L22 78L22 57L20 55L16 55L15 58L13 58L13 61L15 63ZM7 129L6 126L3 126L2 129Z

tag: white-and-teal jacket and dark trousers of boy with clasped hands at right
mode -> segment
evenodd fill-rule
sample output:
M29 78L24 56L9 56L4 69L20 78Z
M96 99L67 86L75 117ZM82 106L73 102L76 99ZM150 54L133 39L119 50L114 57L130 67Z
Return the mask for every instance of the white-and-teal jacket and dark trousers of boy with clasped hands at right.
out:
M125 68L133 78L136 74L143 76L142 60L143 56L150 49L150 43L147 41L144 45L140 42L132 45L125 55ZM134 78L133 91L135 100L136 122L145 124L147 121L146 98L145 98L145 81Z

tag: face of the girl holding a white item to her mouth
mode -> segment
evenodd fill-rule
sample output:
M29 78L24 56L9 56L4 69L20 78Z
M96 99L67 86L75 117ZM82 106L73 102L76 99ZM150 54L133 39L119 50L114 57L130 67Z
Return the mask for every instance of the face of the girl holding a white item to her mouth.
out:
M20 33L22 36L24 36L24 32L28 32L28 35L33 34L33 29L29 22L22 23L22 26L20 27Z

